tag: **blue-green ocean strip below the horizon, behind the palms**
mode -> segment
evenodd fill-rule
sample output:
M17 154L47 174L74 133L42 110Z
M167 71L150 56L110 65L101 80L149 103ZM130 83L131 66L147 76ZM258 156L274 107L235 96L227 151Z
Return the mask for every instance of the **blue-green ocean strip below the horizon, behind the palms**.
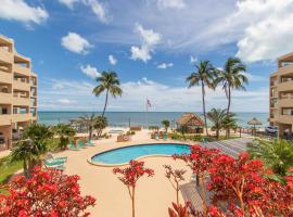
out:
M85 114L92 114L92 112L39 112L39 122L46 125L56 125L59 123L68 123L69 119L84 116ZM95 113L99 115L98 113ZM131 126L162 126L163 119L168 119L175 126L176 119L180 117L183 112L106 112L109 125L112 127L127 127L129 123ZM203 118L202 113L196 113ZM268 113L237 113L238 125L247 127L247 122L256 117L263 123L263 126L268 126ZM211 123L208 123L211 125Z

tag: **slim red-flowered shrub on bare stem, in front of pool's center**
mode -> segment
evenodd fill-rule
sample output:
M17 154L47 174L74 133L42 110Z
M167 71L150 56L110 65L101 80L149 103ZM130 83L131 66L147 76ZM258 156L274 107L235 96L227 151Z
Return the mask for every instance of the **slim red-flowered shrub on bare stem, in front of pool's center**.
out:
M136 199L136 187L137 181L143 177L144 175L148 175L148 177L154 176L154 170L144 168L144 162L137 162L131 159L129 162L129 167L126 168L114 168L114 174L122 175L118 177L118 179L127 187L129 196L132 202L132 217L136 216L135 210L135 199Z

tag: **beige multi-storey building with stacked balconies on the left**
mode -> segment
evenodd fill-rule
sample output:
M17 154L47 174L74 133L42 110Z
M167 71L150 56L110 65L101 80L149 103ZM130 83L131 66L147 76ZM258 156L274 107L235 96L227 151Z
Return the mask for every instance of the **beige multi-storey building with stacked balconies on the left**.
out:
M37 82L30 60L0 35L0 151L10 149L18 132L37 120Z

